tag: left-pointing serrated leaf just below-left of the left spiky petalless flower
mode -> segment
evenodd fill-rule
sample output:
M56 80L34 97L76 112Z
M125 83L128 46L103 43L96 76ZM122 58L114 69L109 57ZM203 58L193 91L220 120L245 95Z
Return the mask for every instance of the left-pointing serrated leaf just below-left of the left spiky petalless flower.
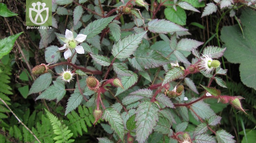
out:
M64 95L66 94L65 83L60 79L53 81L53 85L47 88L43 93L41 93L36 100L38 99L47 99L47 100L55 100L59 102Z

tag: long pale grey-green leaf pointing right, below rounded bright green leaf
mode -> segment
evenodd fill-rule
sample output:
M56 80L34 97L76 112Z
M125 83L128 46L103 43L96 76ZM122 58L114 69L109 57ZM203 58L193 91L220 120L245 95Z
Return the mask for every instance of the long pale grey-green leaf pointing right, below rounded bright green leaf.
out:
M164 19L154 19L148 22L148 30L153 33L166 34L166 33L172 33L177 31L187 31L188 29L185 29L180 25L177 25L173 22L170 22Z

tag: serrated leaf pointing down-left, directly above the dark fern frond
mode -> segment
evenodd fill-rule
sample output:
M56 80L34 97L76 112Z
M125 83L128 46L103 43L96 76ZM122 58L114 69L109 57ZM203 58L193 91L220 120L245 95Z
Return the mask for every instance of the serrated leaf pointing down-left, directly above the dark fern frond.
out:
M65 116L67 115L67 113L76 109L81 104L82 100L83 100L83 95L81 93L76 92L71 94L70 98L68 98L68 101L67 101Z

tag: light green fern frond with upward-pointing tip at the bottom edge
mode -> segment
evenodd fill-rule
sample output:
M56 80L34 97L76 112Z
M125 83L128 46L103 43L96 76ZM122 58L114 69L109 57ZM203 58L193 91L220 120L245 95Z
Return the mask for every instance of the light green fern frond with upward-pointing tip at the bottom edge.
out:
M68 126L62 124L61 121L58 120L56 116L54 116L49 111L45 110L48 118L50 119L53 127L55 136L53 139L56 141L55 143L72 143L75 140L70 139L73 136L71 130L68 130Z

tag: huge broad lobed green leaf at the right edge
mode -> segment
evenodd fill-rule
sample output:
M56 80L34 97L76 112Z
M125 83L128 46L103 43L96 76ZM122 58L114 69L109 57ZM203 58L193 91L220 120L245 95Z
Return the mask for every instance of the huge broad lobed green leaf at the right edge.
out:
M240 16L243 33L239 25L223 27L221 40L227 47L224 57L231 63L240 63L239 71L241 81L248 87L256 89L256 40L255 29L256 12L251 9L244 9Z

